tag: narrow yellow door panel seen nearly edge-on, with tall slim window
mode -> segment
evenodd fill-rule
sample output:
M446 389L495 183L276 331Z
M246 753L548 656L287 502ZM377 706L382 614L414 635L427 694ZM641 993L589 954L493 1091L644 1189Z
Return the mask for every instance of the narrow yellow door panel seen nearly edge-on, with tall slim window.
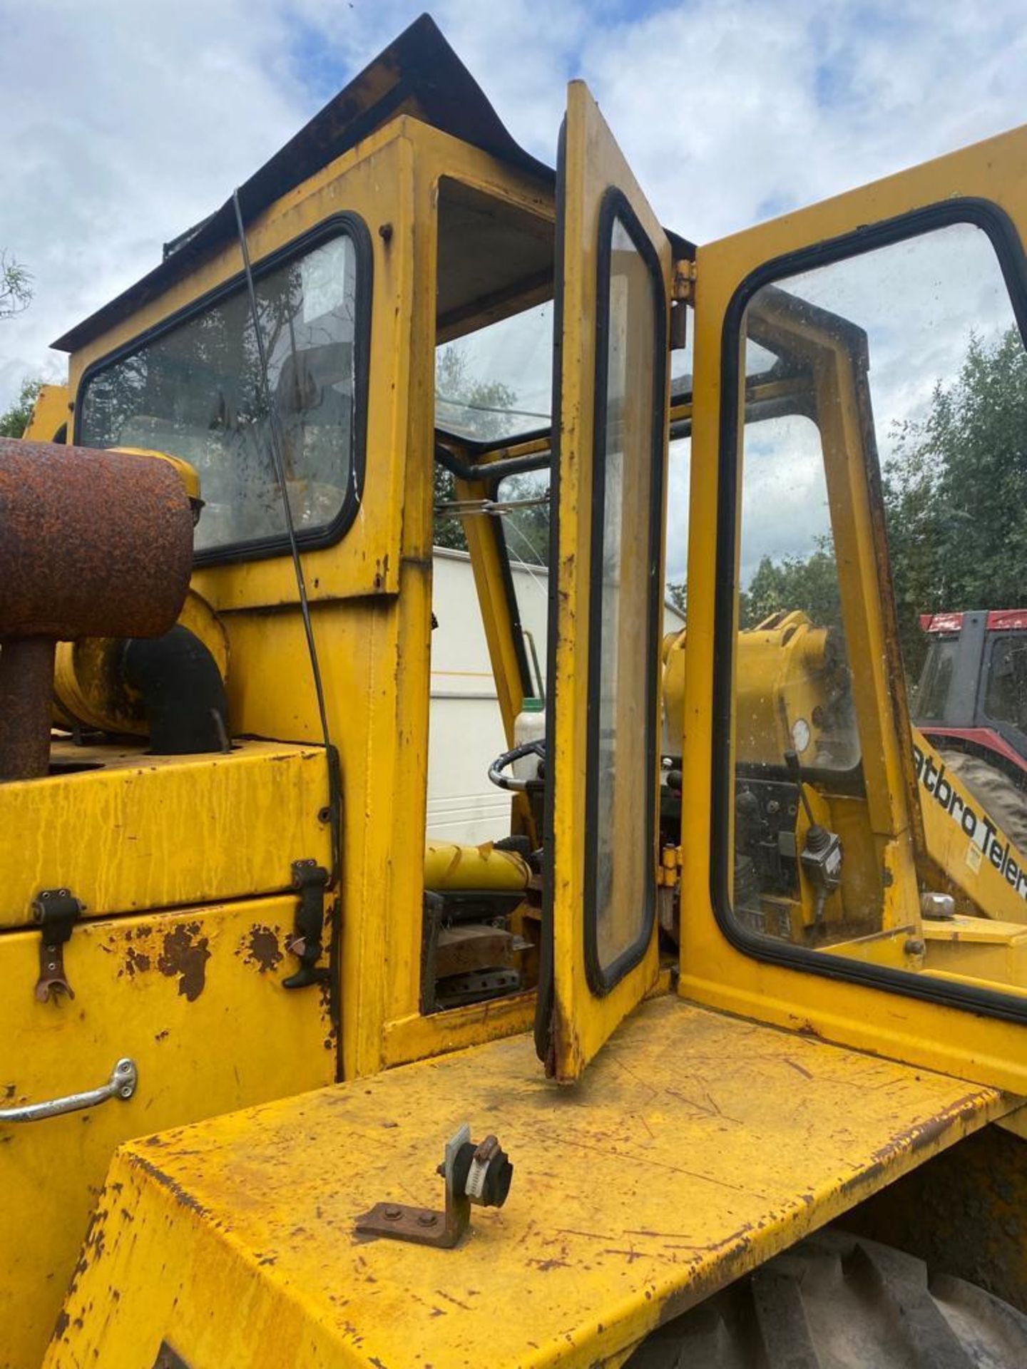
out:
M671 244L587 88L557 170L548 816L535 1042L576 1079L653 986Z

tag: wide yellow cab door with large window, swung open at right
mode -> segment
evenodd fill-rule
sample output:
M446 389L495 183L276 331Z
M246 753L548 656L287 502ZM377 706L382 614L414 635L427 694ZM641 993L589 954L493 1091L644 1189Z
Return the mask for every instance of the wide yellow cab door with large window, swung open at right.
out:
M682 994L1017 1092L1027 872L950 778L986 738L928 767L911 717L924 617L1023 596L1026 166L1020 129L698 249L681 897ZM1009 898L946 906L953 861Z

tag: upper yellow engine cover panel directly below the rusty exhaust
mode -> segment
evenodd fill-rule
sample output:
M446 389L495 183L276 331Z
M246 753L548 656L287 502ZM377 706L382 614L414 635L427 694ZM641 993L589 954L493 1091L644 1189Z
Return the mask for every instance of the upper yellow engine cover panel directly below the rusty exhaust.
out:
M294 860L330 864L322 747L149 756L64 742L53 763L85 768L0 784L0 928L30 925L44 888L103 917L278 893Z

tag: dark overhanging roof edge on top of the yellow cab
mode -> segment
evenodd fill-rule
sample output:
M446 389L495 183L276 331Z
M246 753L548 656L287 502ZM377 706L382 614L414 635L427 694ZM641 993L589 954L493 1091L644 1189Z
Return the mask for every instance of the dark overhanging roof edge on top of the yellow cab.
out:
M511 137L434 19L423 14L240 188L244 222L252 222L275 200L404 112L520 171L549 182L555 179L550 167ZM74 352L93 341L234 237L236 220L229 199L210 218L173 240L164 260L142 279L51 345Z

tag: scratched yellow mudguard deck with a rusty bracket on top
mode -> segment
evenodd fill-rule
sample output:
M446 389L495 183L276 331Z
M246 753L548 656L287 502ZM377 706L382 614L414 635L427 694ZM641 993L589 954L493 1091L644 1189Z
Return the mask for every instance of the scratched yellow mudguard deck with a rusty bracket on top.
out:
M133 1143L48 1364L618 1362L1009 1102L671 997L574 1090L493 1042ZM509 1150L507 1206L455 1251L356 1238L379 1199L441 1201L464 1120Z

